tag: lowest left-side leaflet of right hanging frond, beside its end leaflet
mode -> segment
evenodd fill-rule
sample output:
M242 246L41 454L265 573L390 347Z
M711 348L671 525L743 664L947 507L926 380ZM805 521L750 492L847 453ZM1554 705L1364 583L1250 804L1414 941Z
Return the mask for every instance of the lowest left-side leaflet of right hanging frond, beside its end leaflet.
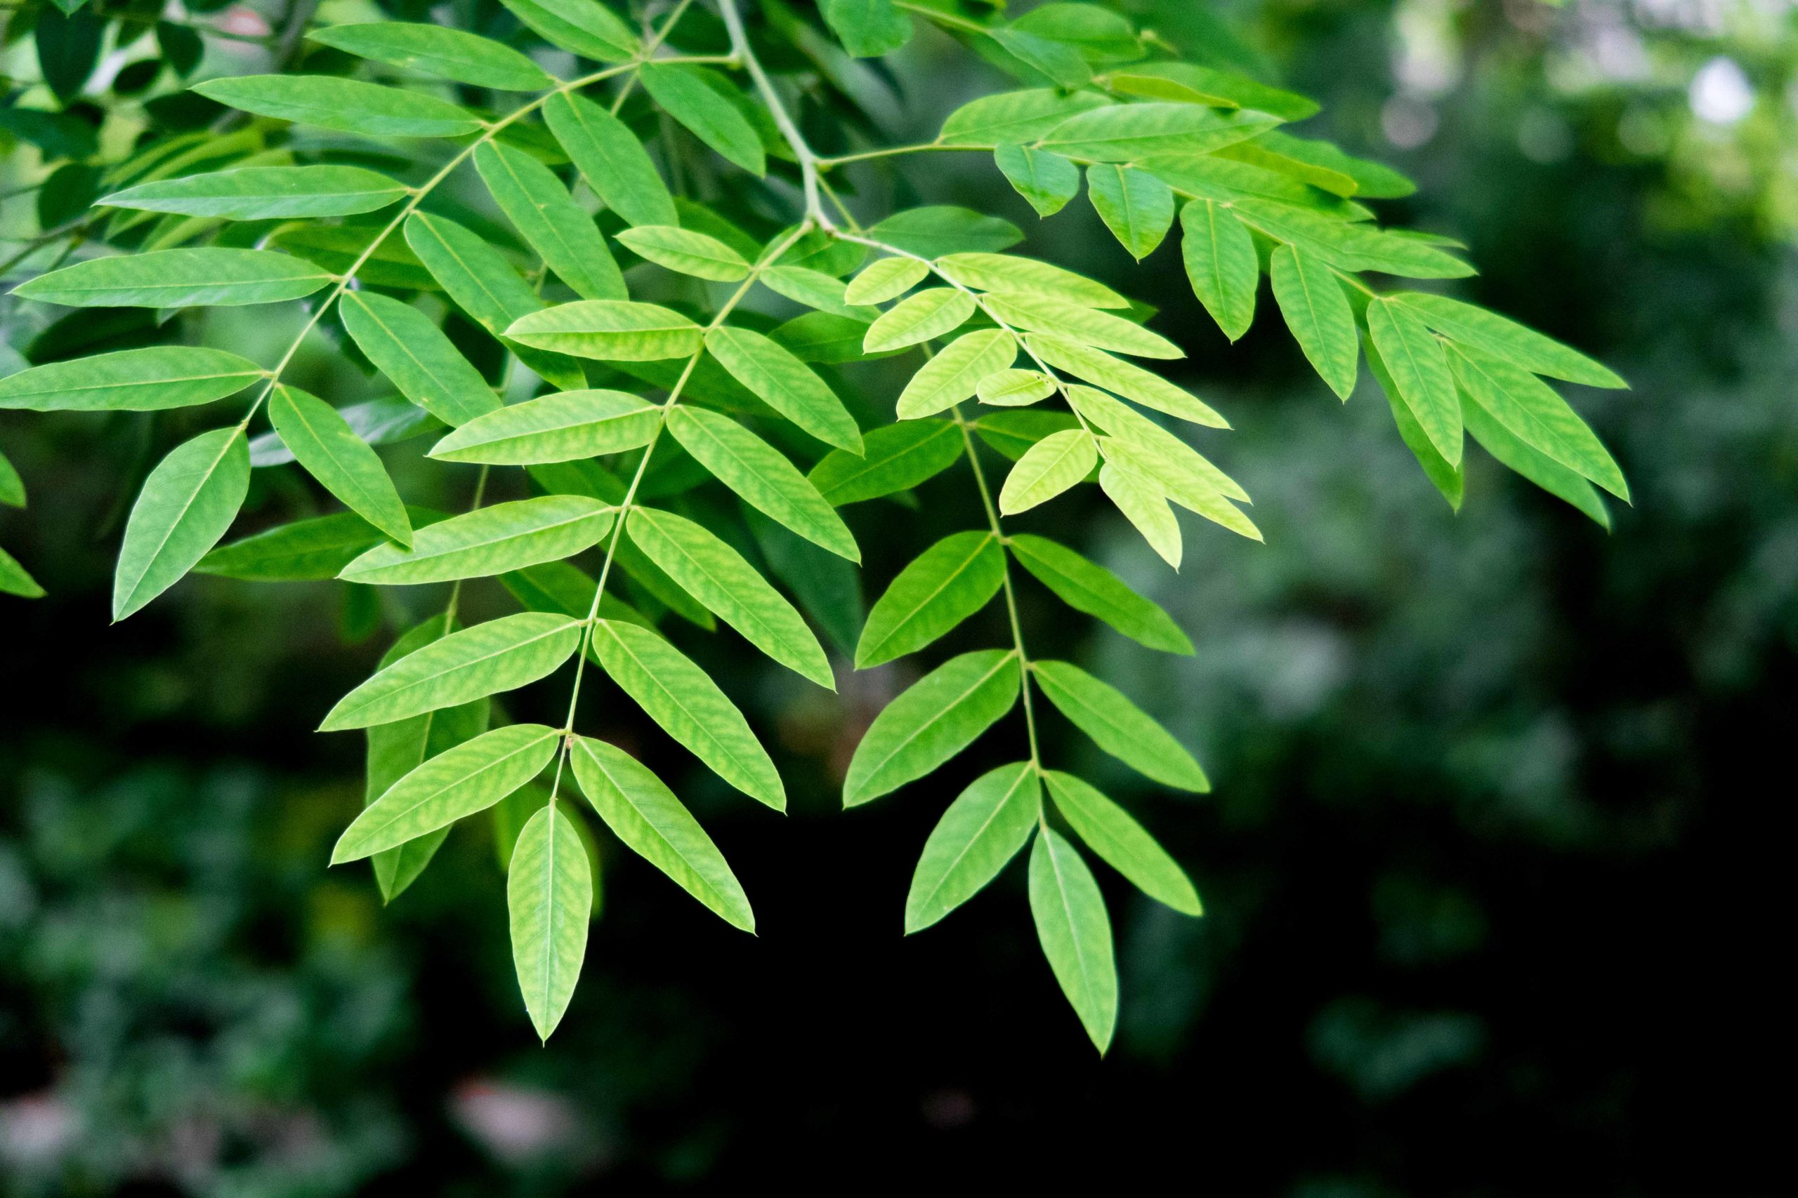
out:
M912 873L904 898L906 936L949 914L998 876L1043 810L1043 785L1030 762L976 778L942 814Z

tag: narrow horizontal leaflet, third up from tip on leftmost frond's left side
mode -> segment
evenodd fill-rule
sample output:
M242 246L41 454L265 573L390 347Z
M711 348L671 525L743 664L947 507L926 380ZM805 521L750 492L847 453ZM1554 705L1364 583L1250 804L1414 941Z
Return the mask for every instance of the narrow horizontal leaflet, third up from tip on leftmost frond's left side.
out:
M374 212L405 194L405 185L361 167L243 167L138 183L95 205L264 221Z

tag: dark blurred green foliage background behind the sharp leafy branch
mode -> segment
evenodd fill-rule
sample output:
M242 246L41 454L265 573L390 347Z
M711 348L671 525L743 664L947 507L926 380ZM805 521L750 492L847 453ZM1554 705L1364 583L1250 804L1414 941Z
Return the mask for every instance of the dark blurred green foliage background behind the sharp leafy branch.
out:
M1417 178L1384 205L1393 221L1469 242L1483 273L1467 298L1631 379L1573 388L1634 489L1615 530L1485 460L1451 514L1365 375L1340 404L1268 313L1226 345L1172 242L1138 269L1084 205L1037 228L973 158L863 176L1005 214L1027 250L1160 304L1187 381L1235 424L1206 451L1255 494L1266 546L1188 524L1176 577L1120 521L1084 523L1081 548L1163 602L1196 657L1025 593L1032 647L1097 663L1210 769L1215 794L1174 797L1082 762L1187 864L1208 914L1102 878L1124 1009L1095 1060L1016 866L899 936L924 835L989 762L845 815L840 771L899 679L850 679L832 702L719 656L726 686L777 713L762 727L793 792L784 821L604 697L588 718L712 828L761 936L601 841L604 911L543 1049L484 821L387 909L363 869L325 869L361 749L311 727L392 627L345 638L369 612L333 584L218 578L108 627L115 526L149 445L4 413L32 508L0 532L50 591L0 600L5 1193L1789 1184L1773 821L1798 735L1791 5L1126 7L1316 95L1304 131ZM1001 81L921 36L895 84L903 138ZM924 499L922 519L854 512L870 586L937 526L975 523L966 472Z

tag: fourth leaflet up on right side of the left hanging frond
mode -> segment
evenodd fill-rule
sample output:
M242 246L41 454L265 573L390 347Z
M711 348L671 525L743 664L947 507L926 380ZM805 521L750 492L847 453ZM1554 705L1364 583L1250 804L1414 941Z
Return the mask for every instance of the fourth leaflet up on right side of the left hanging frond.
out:
M861 560L861 550L843 519L779 449L730 417L703 408L672 408L669 433L744 503L816 546ZM832 451L845 453L843 449ZM859 458L854 458L859 462Z

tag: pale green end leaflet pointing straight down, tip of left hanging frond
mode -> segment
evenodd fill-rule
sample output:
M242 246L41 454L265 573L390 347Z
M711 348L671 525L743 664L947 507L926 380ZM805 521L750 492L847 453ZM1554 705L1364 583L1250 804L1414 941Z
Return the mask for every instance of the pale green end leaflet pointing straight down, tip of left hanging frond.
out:
M593 866L586 846L554 803L518 833L505 871L512 968L530 1026L548 1040L574 999L593 916Z

